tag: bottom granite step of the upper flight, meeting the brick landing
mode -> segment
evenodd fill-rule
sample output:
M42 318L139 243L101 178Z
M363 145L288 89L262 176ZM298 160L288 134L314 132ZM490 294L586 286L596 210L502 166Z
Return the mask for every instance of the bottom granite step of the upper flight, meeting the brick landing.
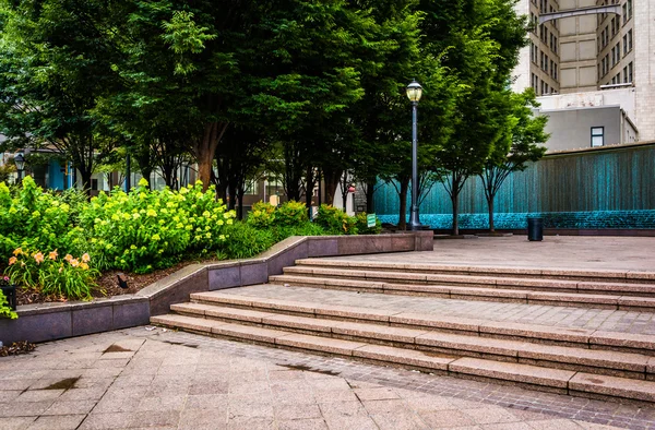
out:
M565 303L564 306L597 306L616 310L655 311L655 297L615 296L609 294L584 292L553 292L529 289L503 289L487 287L464 287L451 285L421 285L421 284L389 284L372 280L332 279L315 276L273 275L269 282L274 285L295 287L350 289L378 291L380 294L416 294L434 297L452 298L460 300L481 300L483 298L496 299L493 301L509 301L525 304ZM597 291L602 292L602 291Z

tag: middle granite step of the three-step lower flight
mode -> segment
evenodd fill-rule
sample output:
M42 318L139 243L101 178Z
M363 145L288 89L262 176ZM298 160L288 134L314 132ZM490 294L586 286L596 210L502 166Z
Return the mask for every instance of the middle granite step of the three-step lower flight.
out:
M532 360L543 367L569 366L592 368L591 373L620 374L626 378L655 380L655 357L630 353L591 350L579 347L553 347L525 341L481 338L479 336L434 332L426 329L397 329L379 324L354 323L308 316L284 315L272 312L217 307L202 303L177 303L171 311L219 321L257 324L266 329L309 332L310 335L329 335L331 338L353 337L355 342L393 342L400 348L433 348L453 356L480 354L487 358L503 357L516 362ZM386 329L391 331L386 332ZM397 344L397 345L396 345ZM378 344L376 344L378 345ZM424 349L425 350L425 349ZM451 353L457 351L457 353ZM522 361L521 361L522 360ZM551 365L547 365L551 363ZM575 369L575 368L573 368ZM595 371L594 371L595 370Z

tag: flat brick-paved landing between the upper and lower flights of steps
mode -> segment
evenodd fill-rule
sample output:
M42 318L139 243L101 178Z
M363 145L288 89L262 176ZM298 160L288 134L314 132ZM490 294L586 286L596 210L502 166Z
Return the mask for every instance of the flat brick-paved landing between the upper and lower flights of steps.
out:
M284 287L271 284L230 288L222 292L397 312L464 316L488 321L655 334L655 313L650 312L395 296L311 287Z

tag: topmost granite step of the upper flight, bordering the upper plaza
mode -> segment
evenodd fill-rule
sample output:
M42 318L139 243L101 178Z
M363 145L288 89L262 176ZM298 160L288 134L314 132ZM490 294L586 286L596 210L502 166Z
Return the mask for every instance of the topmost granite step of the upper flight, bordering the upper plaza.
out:
M325 260L325 259L300 259L295 261L296 265L312 265L312 266L337 266L350 268L388 268L394 271L420 271L420 272L446 272L446 273L466 273L466 274L508 274L508 275L536 275L536 276L570 276L583 278L616 278L616 279L634 279L634 280L653 280L655 282L655 272L641 271L610 271L595 270L581 271L574 268L534 268L534 267L516 267L516 266L475 266L475 265L456 265L456 264L421 264L421 263L393 263L393 262L373 262L373 261L357 261L357 260Z

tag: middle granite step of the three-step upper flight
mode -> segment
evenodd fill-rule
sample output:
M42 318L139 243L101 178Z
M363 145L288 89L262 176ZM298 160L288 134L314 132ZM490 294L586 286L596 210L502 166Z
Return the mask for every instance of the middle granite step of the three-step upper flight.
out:
M285 275L302 277L358 279L384 284L419 284L437 286L471 286L481 288L521 289L551 292L580 292L592 295L655 297L655 282L635 284L627 282L594 282L582 279L547 279L541 277L503 277L501 275L448 274L406 271L389 271L376 267L324 267L300 264L284 268ZM654 301L655 302L655 301Z

